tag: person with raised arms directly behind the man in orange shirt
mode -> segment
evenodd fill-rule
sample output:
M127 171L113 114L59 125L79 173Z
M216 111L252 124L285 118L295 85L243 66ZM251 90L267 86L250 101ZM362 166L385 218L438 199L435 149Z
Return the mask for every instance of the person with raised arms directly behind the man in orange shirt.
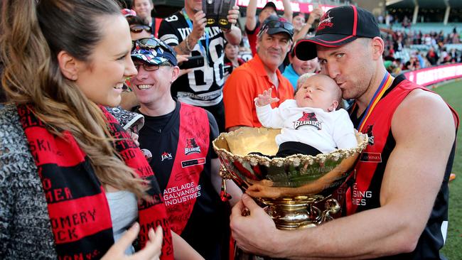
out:
M287 21L292 21L292 7L289 0L282 0L282 5L284 6L284 18ZM268 1L267 4L263 6L262 11L258 15L258 19L255 14L257 13L257 0L250 0L249 5L247 6L247 15L245 20L245 32L247 33L247 38L249 39L250 50L252 50L252 55L257 54L257 35L260 31L260 27L263 22L269 17L276 15L276 4L274 2Z

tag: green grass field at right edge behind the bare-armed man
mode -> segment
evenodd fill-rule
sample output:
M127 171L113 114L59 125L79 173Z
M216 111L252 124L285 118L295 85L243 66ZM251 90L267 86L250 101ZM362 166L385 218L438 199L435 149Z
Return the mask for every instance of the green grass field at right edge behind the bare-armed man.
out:
M450 82L433 89L443 99L456 109L462 117L462 80ZM458 129L456 156L454 158L453 173L455 180L449 183L449 224L446 245L443 254L448 259L462 259L462 130Z

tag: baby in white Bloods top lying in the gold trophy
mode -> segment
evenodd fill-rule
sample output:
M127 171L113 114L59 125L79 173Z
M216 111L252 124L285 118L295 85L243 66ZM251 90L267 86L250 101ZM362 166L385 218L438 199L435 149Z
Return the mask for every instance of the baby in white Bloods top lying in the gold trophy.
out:
M279 150L275 157L301 153L316 156L335 149L358 145L353 123L345 109L337 109L342 98L340 87L327 75L313 75L299 85L295 99L287 99L277 108L271 103L271 89L255 98L257 116L263 126L279 129Z

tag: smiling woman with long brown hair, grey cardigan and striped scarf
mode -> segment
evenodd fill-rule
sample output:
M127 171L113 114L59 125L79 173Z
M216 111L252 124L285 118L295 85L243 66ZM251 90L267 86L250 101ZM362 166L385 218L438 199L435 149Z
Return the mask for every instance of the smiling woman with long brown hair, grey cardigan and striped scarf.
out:
M170 232L143 154L102 107L136 75L119 6L4 0L0 17L11 102L0 111L0 259L173 259L173 245L194 257Z

